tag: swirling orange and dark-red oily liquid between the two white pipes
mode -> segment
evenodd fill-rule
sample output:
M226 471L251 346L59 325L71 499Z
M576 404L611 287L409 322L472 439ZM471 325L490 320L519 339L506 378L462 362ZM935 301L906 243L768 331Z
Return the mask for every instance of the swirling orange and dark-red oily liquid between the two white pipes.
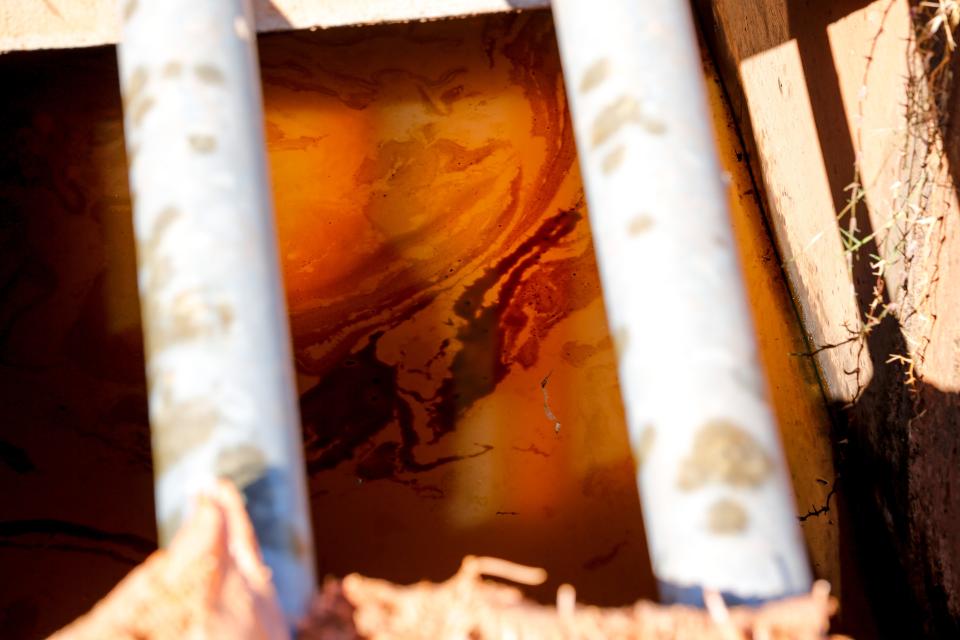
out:
M545 13L261 39L320 572L652 595Z

